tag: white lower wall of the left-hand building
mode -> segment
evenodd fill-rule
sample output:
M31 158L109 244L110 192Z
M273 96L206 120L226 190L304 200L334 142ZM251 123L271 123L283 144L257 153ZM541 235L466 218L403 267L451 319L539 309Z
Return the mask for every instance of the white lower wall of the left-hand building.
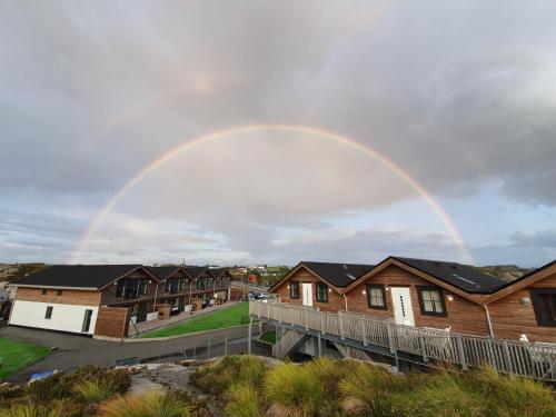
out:
M48 306L53 307L50 319L44 318ZM16 300L11 310L10 325L81 334L85 310L92 310L91 325L87 332L92 335L98 315L98 307L95 306Z

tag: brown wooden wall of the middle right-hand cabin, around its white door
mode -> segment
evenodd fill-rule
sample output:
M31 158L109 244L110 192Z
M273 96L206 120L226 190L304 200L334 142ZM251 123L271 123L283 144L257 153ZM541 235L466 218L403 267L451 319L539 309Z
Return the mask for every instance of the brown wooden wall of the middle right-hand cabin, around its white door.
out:
M409 287L415 326L435 327L439 329L451 326L451 331L456 332L465 332L479 336L488 335L488 324L486 320L486 315L484 308L480 305L469 301L444 288L437 287L430 281L417 277L416 275L394 265L386 267L377 275L374 275L368 279L361 280L359 285L355 286L346 294L349 311L364 312L370 316L394 318L390 291L385 292L387 306L386 310L369 308L367 302L367 295L363 294L364 290L367 290L367 284L377 284L393 287ZM446 317L428 316L421 314L417 286L436 287L441 289L447 311ZM451 295L454 297L454 300L447 300L447 295Z

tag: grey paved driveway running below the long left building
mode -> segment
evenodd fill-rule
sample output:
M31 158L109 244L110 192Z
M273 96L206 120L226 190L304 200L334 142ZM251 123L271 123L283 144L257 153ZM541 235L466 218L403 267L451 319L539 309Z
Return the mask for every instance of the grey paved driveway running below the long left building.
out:
M254 332L256 329L258 329L258 326L254 326ZM43 360L10 377L9 380L12 381L28 380L33 373L51 369L67 370L86 364L102 367L115 366L116 360L129 357L138 357L141 359L150 358L165 356L183 349L186 349L188 355L191 355L193 347L196 347L196 354L198 355L197 357L199 357L199 355L203 355L202 351L207 351L206 347L209 338L211 339L212 346L211 356L216 356L219 351L220 354L224 353L224 346L221 346L221 344L226 335L228 335L229 340L228 353L246 351L247 327L220 329L202 335L183 336L171 340L137 342L97 340L89 337L11 326L0 329L0 337L57 347L57 349ZM202 349L202 347L205 347L205 349ZM255 344L254 353L268 355L267 349L259 348Z

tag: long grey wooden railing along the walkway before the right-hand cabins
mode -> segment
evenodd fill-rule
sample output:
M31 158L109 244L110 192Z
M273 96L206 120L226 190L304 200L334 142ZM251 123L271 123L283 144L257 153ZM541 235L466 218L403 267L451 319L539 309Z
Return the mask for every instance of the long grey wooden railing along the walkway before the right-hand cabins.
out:
M529 344L517 340L456 334L411 327L354 312L324 312L316 308L279 301L250 301L250 315L278 322L361 341L424 359L458 364L463 369L489 365L499 373L556 381L556 344Z

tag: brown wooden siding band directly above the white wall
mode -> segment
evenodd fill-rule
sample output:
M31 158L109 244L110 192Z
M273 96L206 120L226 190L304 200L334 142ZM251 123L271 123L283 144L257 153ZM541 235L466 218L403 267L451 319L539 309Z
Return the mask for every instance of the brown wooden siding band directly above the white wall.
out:
M100 305L100 292L93 290L62 289L62 294L60 296L58 295L58 290L56 288L46 289L46 295L43 295L42 291L43 288L19 287L16 294L16 299L23 301L69 304L76 306Z

